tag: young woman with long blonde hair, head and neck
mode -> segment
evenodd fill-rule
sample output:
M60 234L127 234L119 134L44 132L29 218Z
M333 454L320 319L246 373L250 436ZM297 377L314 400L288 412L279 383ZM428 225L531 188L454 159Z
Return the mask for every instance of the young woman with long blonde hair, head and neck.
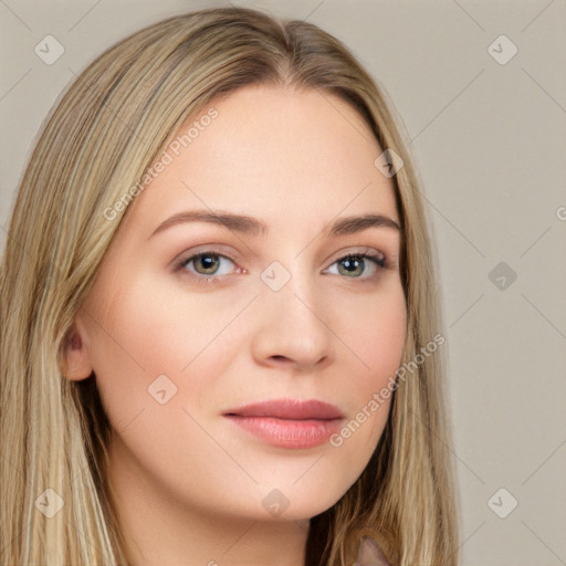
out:
M119 42L10 226L2 564L455 565L434 295L337 40L213 9Z

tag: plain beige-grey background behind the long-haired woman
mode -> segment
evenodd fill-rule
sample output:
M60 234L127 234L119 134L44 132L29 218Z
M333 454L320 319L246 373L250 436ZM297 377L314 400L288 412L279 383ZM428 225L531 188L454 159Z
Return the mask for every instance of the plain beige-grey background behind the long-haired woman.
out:
M440 256L462 565L566 564L566 2L237 3L342 39L402 117ZM74 74L127 33L210 6L227 2L0 1L0 243ZM52 65L34 53L49 34L65 50ZM489 52L502 34L518 50L506 64ZM492 511L512 497L505 518Z

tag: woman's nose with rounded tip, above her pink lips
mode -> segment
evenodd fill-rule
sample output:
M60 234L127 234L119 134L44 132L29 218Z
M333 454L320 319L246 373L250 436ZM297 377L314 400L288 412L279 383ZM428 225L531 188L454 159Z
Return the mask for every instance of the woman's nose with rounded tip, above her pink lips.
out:
M335 335L324 319L321 296L306 287L291 279L280 291L263 289L252 338L252 353L260 365L305 371L334 360Z

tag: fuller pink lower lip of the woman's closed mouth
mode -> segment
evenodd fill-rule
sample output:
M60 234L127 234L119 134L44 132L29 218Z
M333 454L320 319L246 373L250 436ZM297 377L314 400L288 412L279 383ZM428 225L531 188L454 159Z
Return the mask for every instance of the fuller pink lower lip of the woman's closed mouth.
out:
M269 444L280 448L313 448L324 444L339 430L343 420L291 420L233 415L228 416L228 419Z

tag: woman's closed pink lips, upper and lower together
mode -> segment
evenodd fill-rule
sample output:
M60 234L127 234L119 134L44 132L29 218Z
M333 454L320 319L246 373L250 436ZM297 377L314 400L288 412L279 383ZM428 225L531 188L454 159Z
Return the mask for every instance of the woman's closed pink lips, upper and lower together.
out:
M343 412L324 401L274 399L229 410L223 417L264 442L289 449L313 448L337 432Z

